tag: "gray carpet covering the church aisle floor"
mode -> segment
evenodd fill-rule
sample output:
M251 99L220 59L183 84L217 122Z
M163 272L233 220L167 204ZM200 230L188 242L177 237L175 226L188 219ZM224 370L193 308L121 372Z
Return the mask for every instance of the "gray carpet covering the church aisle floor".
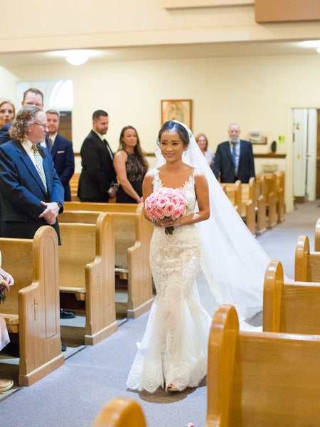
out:
M311 250L314 248L318 205L318 201L297 205L284 223L258 238L270 258L281 260L289 278L294 276L294 248L299 234L309 236ZM202 292L206 294L206 290ZM0 426L90 427L107 401L127 396L141 404L149 427L186 427L191 422L195 427L203 427L206 381L197 389L178 394L162 390L155 394L127 391L127 374L147 317L148 313L124 322L100 344L83 348L46 378L10 394L0 402Z

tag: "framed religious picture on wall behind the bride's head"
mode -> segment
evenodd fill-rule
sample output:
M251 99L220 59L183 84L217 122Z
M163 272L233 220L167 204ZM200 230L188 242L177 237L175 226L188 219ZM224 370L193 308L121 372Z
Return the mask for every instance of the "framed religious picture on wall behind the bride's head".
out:
M178 120L192 130L192 100L161 100L161 125Z

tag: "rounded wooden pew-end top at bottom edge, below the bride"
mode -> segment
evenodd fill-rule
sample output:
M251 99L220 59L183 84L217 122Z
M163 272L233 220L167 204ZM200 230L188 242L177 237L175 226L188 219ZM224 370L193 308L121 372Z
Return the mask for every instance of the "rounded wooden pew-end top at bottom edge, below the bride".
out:
M146 419L137 401L118 397L102 408L92 427L146 427Z

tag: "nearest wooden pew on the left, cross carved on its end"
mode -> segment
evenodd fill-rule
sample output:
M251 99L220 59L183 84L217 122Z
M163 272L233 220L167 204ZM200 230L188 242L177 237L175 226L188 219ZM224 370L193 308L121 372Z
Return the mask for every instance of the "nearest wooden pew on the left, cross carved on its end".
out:
M64 363L60 340L58 238L43 226L31 239L0 238L2 267L14 277L0 315L18 333L19 386L30 386Z

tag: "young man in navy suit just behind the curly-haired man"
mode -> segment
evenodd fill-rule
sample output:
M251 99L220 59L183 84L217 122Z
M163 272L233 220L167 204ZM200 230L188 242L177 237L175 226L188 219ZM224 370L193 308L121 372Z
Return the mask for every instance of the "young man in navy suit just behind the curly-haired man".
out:
M60 113L56 110L48 110L46 116L49 130L49 133L46 135L46 147L51 152L55 170L65 189L65 201L71 201L69 181L75 172L73 143L69 139L58 134Z

